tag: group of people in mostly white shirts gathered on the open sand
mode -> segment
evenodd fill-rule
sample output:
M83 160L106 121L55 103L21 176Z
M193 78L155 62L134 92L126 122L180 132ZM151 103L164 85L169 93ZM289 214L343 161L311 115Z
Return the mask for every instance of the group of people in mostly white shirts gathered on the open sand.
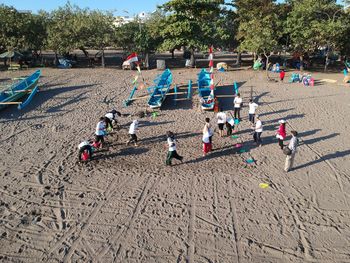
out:
M226 135L231 136L233 133L233 130L235 129L235 125L238 125L242 120L241 109L243 106L243 99L241 98L239 93L237 93L237 95L235 96L233 103L234 103L233 105L234 116L230 112L231 117L228 117L227 114L223 111L223 109L220 109L216 115L220 137L225 136L224 127L226 127ZM260 120L259 115L256 114L256 110L258 107L259 105L255 103L252 99L250 99L248 119L249 119L249 122L253 125L252 129L254 130L254 134L253 134L254 142L259 147L261 147L262 146L261 134L263 132L263 124L262 124L262 121ZM103 147L103 144L105 142L104 137L113 130L113 125L117 123L117 116L121 116L121 113L113 109L107 112L104 117L100 118L99 122L96 125L95 139L93 141L83 141L78 146L80 161L90 160L92 157L94 148ZM134 143L135 146L138 146L138 138L137 138L138 127L139 127L138 120L137 119L133 120L129 127L130 138L126 142L127 145L129 145L130 143ZM286 161L285 161L285 167L284 167L284 170L286 172L290 171L291 167L293 166L296 148L298 145L298 139L297 139L298 133L296 131L291 131L291 134L292 134L292 139L290 140L289 145L285 147L284 140L286 139L286 136L287 136L286 121L283 119L280 120L279 128L276 131L276 138L280 149L283 150L283 153L286 155ZM210 119L205 118L205 124L202 130L203 156L206 156L208 153L212 151L213 135L214 135L214 129L212 127L212 124L210 123ZM182 162L183 157L180 156L176 150L177 141L175 139L175 134L171 131L167 131L166 137L167 137L166 146L168 147L168 154L166 157L165 164L172 165L173 158Z

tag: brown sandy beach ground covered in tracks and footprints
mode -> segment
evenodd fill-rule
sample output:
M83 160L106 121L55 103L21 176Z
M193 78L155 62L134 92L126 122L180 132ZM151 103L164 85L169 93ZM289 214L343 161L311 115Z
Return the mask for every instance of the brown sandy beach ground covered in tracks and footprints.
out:
M184 92L198 72L174 70L174 83ZM340 73L315 74L338 80L315 87L267 82L250 70L219 73L226 110L234 81L245 106L253 89L263 146L252 140L245 107L239 137L216 134L205 158L203 121L216 120L196 95L179 95L176 106L169 96L158 117L140 119L140 146L125 145L133 114L146 109L145 100L122 107L133 74L44 69L25 110L0 112L0 261L350 262L350 87ZM143 74L151 83L159 72ZM124 114L119 139L108 136L108 149L77 163L77 145L113 107ZM274 137L281 118L301 139L288 174ZM183 164L165 166L167 130L177 134Z

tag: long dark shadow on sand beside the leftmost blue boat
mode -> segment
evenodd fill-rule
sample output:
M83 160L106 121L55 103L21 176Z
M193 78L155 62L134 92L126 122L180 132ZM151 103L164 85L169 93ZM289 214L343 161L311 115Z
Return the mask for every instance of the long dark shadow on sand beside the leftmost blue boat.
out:
M70 91L75 91L75 90L80 90L80 89L87 89L90 87L94 87L95 85L98 84L87 84L87 85L79 85L79 86L68 86L68 87L61 87L61 88L54 88L54 89L49 89L49 90L42 90L39 91L38 94L36 94L31 101L31 103L25 107L23 110L17 110L15 107L7 107L6 109L2 110L0 112L0 119L5 119L5 120L22 120L20 117L24 115L25 113L37 108L39 105L42 105L44 102L48 101L49 99L52 99L53 97L57 95L61 95L62 93L65 92L70 92ZM40 87L40 84L39 84ZM56 108L59 108L60 106L56 106ZM47 111L49 112L49 111ZM50 117L50 116L47 116ZM32 118L34 119L34 118Z

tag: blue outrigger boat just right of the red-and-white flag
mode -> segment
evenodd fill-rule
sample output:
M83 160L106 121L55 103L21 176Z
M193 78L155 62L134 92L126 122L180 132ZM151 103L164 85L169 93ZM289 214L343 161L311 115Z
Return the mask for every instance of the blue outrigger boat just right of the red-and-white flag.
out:
M151 109L160 108L166 99L166 95L170 90L173 81L173 74L169 69L166 69L159 77L154 80L155 86L149 87L150 92L148 106Z

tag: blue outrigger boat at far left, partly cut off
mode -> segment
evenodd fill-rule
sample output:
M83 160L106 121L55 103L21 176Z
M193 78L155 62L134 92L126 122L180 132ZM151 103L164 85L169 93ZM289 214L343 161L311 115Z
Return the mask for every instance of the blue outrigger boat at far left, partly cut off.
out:
M18 105L19 110L26 107L38 92L37 84L40 75L41 70L37 70L32 75L0 91L0 110L9 105ZM19 101L25 96L27 96L25 101Z

